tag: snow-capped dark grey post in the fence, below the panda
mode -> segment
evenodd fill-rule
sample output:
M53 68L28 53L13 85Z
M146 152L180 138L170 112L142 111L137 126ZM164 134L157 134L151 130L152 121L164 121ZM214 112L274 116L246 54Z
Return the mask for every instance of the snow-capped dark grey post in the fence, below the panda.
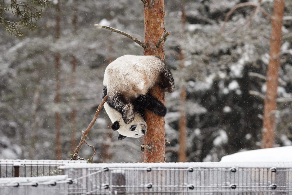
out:
M112 170L111 178L113 186L126 185L125 172L123 170ZM111 191L113 194L126 194L125 187L112 187Z

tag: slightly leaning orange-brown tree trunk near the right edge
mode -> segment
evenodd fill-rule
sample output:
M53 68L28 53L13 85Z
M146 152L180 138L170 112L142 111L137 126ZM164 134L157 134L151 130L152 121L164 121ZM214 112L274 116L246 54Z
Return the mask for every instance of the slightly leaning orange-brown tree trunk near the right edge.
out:
M282 37L282 18L284 15L284 0L274 1L272 32L270 39L270 62L267 71L267 91L264 100L264 118L262 128L262 148L274 146L275 141L275 112L277 109L277 87L280 68L280 49Z

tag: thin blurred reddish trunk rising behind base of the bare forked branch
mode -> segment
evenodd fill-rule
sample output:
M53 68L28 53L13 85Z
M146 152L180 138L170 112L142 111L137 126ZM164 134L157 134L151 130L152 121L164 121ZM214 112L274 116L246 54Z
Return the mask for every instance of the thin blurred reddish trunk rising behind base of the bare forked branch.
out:
M73 35L77 35L77 15L76 15L77 9L74 8L74 14L73 14L73 19L72 19L72 24L73 24ZM75 90L75 83L76 83L76 65L77 65L77 59L75 57L74 54L72 54L72 60L71 60L71 64L72 64L72 78L71 78L71 87L73 90ZM75 91L73 91L73 104L76 103L76 93ZM76 109L75 106L73 106L72 111L71 111L71 152L73 152L76 148L76 138L75 138L75 134L76 134Z

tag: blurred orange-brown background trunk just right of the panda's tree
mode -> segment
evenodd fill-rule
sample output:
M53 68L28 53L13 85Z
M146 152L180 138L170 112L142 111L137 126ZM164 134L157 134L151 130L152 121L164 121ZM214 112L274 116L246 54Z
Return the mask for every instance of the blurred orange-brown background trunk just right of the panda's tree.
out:
M185 1L181 1L181 24L182 24L182 37L185 37ZM185 56L182 49L182 46L180 46L180 71L181 75L183 75L184 69L185 69ZM181 89L180 89L180 121L179 121L179 144L180 149L178 151L178 161L179 162L186 162L186 128L187 128L187 120L185 116L185 105L186 105L186 89L185 89L185 82L183 79L183 76L181 78Z

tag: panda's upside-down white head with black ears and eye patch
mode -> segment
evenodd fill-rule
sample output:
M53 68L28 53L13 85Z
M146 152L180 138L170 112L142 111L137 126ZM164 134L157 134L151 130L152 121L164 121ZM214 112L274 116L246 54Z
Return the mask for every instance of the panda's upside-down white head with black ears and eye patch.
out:
M119 132L119 140L126 137L142 137L147 132L147 124L140 113L135 113L135 119L126 124L122 118L112 124L112 130Z

